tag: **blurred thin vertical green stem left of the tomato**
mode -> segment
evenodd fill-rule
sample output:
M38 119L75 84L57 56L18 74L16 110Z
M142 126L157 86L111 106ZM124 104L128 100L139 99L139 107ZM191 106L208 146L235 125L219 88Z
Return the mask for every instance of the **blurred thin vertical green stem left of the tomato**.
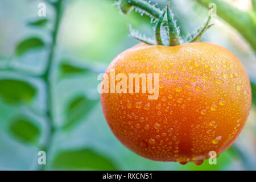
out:
M56 131L55 127L54 127L54 123L53 123L51 71L52 71L52 67L53 67L53 57L55 55L55 46L56 46L56 41L57 41L57 34L59 32L63 2L64 2L63 0L59 0L54 4L56 18L55 18L54 28L52 31L52 44L51 44L51 49L50 49L50 53L49 53L49 57L48 57L48 61L47 61L46 72L43 75L43 79L46 82L46 95L47 95L47 111L46 111L46 113L47 113L47 117L48 117L49 134L46 139L46 144L42 148L42 150L46 152L47 163L49 162L48 151L49 151L49 148L51 147L52 138ZM42 167L40 169L41 170L46 169L46 165L42 165Z

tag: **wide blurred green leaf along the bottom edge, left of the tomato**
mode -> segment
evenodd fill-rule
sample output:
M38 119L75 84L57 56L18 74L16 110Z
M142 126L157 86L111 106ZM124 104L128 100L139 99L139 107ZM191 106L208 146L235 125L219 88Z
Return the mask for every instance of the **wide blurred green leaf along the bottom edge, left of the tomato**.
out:
M88 148L60 152L52 163L52 168L66 170L117 170L117 167L109 159Z

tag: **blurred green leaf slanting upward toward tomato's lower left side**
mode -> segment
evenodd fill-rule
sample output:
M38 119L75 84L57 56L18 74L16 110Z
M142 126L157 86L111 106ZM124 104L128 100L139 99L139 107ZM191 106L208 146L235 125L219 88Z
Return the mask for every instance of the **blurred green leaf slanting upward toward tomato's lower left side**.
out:
M84 118L93 109L97 102L97 100L88 100L84 96L79 96L71 101L65 111L67 115L63 128L67 130L75 126L80 119Z

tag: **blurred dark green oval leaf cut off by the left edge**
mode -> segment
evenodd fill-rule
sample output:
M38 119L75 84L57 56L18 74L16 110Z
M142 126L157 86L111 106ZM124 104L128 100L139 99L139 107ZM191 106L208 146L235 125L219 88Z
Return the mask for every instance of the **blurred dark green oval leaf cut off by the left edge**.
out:
M28 104L36 94L36 88L21 80L1 79L0 97L8 104Z

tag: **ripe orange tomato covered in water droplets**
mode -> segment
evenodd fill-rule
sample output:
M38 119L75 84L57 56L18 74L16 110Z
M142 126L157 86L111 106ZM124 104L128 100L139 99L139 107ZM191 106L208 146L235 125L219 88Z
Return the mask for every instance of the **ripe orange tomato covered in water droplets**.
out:
M111 69L115 75L159 73L155 100L148 100L150 93L101 94L115 137L144 158L199 165L209 151L220 154L231 146L245 126L250 81L241 61L224 47L141 43L112 61L109 77Z

